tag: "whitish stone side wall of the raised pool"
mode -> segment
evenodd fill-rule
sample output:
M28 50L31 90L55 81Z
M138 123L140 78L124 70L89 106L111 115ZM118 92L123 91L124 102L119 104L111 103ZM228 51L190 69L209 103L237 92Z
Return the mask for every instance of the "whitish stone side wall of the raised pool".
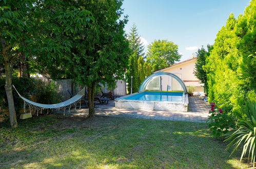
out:
M148 101L148 100L127 100L126 97L130 97L137 93L131 95L123 96L115 100L115 107L119 109L140 109L145 111L178 111L187 112L188 111L188 94L184 95L183 102L170 102L170 101Z

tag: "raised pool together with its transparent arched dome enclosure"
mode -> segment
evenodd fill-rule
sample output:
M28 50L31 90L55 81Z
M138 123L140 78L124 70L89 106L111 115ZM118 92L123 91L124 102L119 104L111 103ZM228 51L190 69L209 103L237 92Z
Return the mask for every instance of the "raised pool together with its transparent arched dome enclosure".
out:
M187 88L178 75L157 72L141 83L137 93L115 99L115 107L187 112Z

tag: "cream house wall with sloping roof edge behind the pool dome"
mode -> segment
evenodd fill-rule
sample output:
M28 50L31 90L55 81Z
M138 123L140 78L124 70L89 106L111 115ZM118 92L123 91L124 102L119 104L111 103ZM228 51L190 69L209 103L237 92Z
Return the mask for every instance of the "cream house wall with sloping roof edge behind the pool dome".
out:
M195 62L196 62L196 57L178 62L176 64L173 64L171 66L159 69L154 71L154 73L162 71L162 72L168 72L168 73L173 73L180 77L187 89L189 86L194 87L193 94L194 95L203 95L204 94L204 89L203 89L203 84L200 83L199 79L195 77L193 74L194 68L195 68Z

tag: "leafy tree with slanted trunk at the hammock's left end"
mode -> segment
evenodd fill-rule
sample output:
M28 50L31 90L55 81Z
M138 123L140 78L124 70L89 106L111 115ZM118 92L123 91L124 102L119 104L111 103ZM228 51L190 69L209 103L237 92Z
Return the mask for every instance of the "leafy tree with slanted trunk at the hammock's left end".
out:
M61 56L71 51L70 37L90 23L88 11L64 6L58 0L0 2L0 60L5 65L11 126L17 126L11 86L14 62L21 55L23 60L31 56L35 65L60 62Z

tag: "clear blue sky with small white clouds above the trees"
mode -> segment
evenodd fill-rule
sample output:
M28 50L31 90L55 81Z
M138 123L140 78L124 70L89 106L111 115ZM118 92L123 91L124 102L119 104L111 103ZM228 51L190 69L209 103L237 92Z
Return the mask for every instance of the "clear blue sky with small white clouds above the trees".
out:
M144 44L167 39L179 45L181 61L191 58L202 45L213 44L216 34L232 12L237 17L249 0L124 0L125 27L137 26Z

